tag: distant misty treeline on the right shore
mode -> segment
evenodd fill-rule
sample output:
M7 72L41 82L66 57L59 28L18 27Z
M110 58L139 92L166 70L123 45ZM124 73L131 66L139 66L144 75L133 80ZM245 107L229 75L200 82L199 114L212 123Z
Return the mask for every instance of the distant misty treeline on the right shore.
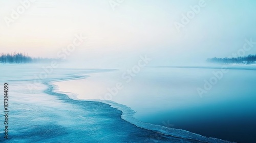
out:
M248 55L244 57L237 58L209 58L206 60L207 62L215 62L215 63L241 63L241 64L254 64L256 61L256 55Z

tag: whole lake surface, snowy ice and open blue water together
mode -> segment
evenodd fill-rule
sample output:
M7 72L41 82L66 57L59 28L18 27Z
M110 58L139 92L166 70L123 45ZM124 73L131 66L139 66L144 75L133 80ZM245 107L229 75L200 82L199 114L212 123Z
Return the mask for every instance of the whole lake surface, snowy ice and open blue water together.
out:
M53 69L38 79L41 66L0 67L9 142L255 142L254 67L230 67L201 95L221 67L146 67L131 80L117 69Z

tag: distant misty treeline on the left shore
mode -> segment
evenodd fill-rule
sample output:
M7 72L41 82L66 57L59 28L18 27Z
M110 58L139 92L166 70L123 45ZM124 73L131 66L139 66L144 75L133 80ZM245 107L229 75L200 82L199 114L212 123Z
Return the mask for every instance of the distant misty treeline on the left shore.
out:
M38 63L38 62L51 62L56 59L52 58L32 58L28 54L12 53L0 54L0 63Z

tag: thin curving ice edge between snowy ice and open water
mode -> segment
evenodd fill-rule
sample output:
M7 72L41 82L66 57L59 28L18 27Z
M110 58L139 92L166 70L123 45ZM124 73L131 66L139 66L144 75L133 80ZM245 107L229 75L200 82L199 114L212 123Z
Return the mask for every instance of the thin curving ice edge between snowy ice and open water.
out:
M55 81L51 81L49 83L46 83L48 85L48 87L52 86L52 90L48 93L55 92L55 93L65 94L71 100L93 101L93 102L101 102L101 103L109 104L109 105L111 105L111 107L116 108L116 109L118 109L122 112L121 118L123 120L125 120L125 121L127 121L131 124L134 124L137 127L147 129L147 130L156 131L155 136L152 137L152 139L154 139L154 140L157 140L159 138L159 134L163 134L163 135L169 135L169 136L173 136L173 137L188 139L188 140L191 140L191 141L194 140L194 141L199 141L199 142L217 142L217 143L218 142L230 142L230 141L225 141L225 140L222 140L222 139L205 137L205 136L195 134L195 133L191 133L189 131L185 131L185 130L181 130L181 129L168 128L168 127L164 127L164 126L160 126L160 125L153 125L153 124L144 123L144 122L141 122L141 121L137 120L136 118L134 118L135 111L133 111L131 108L129 108L125 105L121 105L121 104L118 104L116 102L106 101L106 100L83 100L83 99L78 99L77 98L78 97L77 93L67 93L67 92L61 91L61 90L59 90L59 87L57 85L55 85L56 82L60 82L60 81L72 81L72 80L79 80L79 79L84 79L84 78L87 78L87 76L80 76L80 77L76 77L76 78L72 78L72 79L66 79L66 80L55 80ZM51 87L49 87L49 88L51 88ZM148 141L150 141L150 139Z

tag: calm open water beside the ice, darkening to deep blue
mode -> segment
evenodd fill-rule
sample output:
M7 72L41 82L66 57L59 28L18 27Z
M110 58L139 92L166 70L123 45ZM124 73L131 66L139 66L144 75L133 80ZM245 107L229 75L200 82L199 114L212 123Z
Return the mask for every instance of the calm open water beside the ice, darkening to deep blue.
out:
M229 68L202 97L197 88L203 89L205 80L209 81L214 76L212 72L220 68L148 67L129 83L121 78L121 71L100 73L77 80L75 83L81 88L68 92L80 92L81 99L93 92L90 98L99 99L108 93L107 88L121 82L124 88L112 100L131 107L136 111L135 117L143 122L163 125L168 121L175 128L208 137L255 142L252 136L256 136L256 73L253 67L243 68ZM93 81L94 88L88 86L87 80ZM62 82L62 88L70 86L69 82Z

